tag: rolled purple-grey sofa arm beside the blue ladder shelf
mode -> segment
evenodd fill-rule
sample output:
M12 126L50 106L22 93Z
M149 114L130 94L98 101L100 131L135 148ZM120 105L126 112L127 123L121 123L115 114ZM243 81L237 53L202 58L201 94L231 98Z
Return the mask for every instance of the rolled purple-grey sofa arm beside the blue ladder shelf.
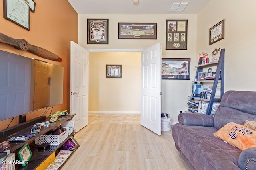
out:
M213 127L214 117L200 113L180 113L178 119L182 125Z

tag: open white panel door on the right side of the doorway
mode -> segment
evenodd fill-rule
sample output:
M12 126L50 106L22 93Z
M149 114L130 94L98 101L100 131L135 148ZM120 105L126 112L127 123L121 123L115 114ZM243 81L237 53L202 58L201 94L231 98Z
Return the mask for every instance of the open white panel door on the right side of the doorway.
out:
M141 53L140 124L161 135L161 43Z

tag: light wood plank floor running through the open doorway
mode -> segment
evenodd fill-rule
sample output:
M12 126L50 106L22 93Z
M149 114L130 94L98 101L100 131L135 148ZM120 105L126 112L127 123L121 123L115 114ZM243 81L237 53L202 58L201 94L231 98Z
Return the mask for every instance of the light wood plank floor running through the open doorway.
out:
M171 131L156 135L140 125L139 114L90 114L74 137L80 147L63 170L189 170Z

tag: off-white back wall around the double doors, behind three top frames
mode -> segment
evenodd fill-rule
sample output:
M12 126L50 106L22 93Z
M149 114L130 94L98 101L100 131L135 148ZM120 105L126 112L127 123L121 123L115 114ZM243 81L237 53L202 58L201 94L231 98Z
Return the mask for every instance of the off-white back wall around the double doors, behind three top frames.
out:
M87 18L109 19L108 45L87 44ZM188 50L165 50L166 20L171 19L188 20ZM87 49L145 49L151 45L162 42L162 58L191 58L191 80L194 79L196 71L194 66L198 62L196 54L196 15L79 15L78 21L79 45ZM118 22L156 22L157 39L118 39ZM138 86L140 86L140 84L138 84ZM162 111L170 114L172 122L178 122L179 110L184 111L188 108L186 102L188 95L191 93L190 86L190 80L162 80ZM134 96L136 96L136 94L134 94ZM91 101L89 100L89 102ZM110 111L110 109L108 111ZM112 111L117 110L112 108Z

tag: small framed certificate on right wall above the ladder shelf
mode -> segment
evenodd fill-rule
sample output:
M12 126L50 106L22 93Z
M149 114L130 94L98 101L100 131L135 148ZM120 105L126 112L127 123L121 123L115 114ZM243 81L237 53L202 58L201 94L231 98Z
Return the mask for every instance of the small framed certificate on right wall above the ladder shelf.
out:
M224 39L224 19L209 30L209 45Z

